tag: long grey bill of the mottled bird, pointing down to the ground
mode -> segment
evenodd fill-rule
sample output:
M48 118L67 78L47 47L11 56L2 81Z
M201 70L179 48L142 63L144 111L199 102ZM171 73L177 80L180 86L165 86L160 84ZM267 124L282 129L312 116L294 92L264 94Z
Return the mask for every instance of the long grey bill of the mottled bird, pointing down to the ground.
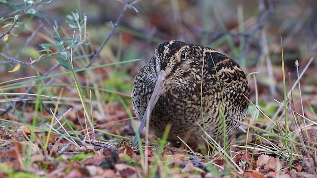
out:
M155 83L155 87L154 87L153 93L151 95L151 98L150 98L150 101L148 103L147 109L144 112L140 127L138 129L139 135L141 135L145 124L150 119L150 114L151 114L154 106L156 105L156 103L159 100L159 96L161 95L163 87L164 87L165 76L166 76L165 71L163 71L163 70L159 71L157 82ZM147 124L147 126L148 126L148 124ZM137 134L136 134L135 137L134 137L132 146L135 147L137 145L137 142L138 142L138 137L137 137Z

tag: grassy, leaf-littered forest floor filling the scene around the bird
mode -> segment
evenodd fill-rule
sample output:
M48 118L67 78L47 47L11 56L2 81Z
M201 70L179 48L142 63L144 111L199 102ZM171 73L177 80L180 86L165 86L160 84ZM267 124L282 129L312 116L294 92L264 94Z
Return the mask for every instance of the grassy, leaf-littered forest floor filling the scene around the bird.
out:
M1 178L317 177L317 1L9 2ZM172 147L150 133L132 147L132 82L168 40L215 48L248 74L249 113L226 142Z

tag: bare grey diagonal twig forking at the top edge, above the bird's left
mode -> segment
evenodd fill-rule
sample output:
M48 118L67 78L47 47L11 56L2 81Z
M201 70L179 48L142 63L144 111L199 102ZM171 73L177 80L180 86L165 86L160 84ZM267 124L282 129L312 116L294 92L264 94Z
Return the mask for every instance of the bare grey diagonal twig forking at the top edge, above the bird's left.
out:
M119 16L117 17L117 20L115 21L114 24L111 23L112 25L112 29L110 31L110 33L108 34L108 36L106 37L106 40L103 42L103 44L99 47L98 51L96 52L96 54L94 55L94 57L91 59L91 61L86 65L85 68L90 67L94 61L96 60L96 58L98 57L99 53L101 52L101 50L104 48L104 46L106 45L106 43L109 41L110 37L113 35L114 30L117 28L119 22L121 21L125 11L129 8L132 8L133 10L135 10L138 13L138 10L133 6L135 3L139 2L141 0L134 0L133 2L130 2L129 0L125 0L125 4L119 14ZM122 2L122 1L120 1Z

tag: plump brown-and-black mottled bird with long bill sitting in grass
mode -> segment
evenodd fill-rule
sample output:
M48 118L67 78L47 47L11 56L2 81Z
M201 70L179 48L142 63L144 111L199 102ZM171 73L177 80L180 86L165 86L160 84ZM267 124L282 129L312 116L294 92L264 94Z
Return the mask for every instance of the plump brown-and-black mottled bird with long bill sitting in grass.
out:
M233 134L246 118L250 89L239 64L203 45L167 41L137 73L131 91L132 106L150 132L167 140L203 144ZM137 135L133 146L137 144Z

